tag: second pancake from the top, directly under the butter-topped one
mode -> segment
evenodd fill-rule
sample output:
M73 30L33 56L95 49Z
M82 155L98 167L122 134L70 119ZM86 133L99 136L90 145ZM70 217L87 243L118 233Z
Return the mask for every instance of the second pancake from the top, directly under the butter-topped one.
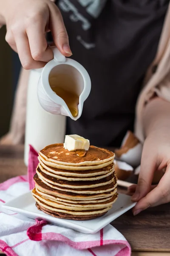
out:
M79 157L80 158L80 157ZM96 164L96 165L92 165L92 166L68 166L68 165L64 165L64 164L57 164L57 163L53 163L51 161L45 160L45 158L43 158L40 154L38 157L38 160L42 161L45 165L47 166L51 166L57 169L62 169L62 170L71 170L71 171L84 171L84 170L95 170L95 169L102 169L105 166L108 166L110 164L113 163L113 159L109 160L108 162L104 162L102 164Z

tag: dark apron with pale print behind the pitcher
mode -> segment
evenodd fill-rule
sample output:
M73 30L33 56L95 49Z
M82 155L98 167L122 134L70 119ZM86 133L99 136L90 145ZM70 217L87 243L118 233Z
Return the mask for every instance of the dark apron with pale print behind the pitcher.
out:
M86 3L86 4L85 4ZM100 4L97 4L100 3ZM119 146L133 131L136 100L153 61L169 0L58 0L74 60L91 77L82 116L67 134Z

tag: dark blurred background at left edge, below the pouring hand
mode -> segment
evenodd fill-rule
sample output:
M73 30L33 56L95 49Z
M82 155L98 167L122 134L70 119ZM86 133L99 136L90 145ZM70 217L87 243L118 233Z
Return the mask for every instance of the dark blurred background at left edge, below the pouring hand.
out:
M9 129L20 60L5 41L6 27L0 29L0 137Z

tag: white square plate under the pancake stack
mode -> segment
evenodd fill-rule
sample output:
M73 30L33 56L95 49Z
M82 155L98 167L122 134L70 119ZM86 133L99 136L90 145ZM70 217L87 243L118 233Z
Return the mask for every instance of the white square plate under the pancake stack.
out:
M37 209L35 206L34 198L31 195L31 191L15 198L3 205L4 208L25 215L28 218L38 218L46 220L52 224L57 224L62 227L71 228L72 230L79 231L86 234L94 234L105 227L111 221L118 218L123 213L135 206L136 203L132 203L130 196L119 194L117 201L113 204L111 210L109 210L102 217L89 220L89 221L74 221L65 220L60 218L54 218L51 215Z

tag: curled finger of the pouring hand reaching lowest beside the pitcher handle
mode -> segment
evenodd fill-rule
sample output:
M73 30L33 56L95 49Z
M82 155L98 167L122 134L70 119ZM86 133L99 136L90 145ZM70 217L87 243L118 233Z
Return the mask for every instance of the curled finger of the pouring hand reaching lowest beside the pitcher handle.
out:
M17 46L17 52L24 69L29 70L29 69L41 68L45 66L46 62L35 61L32 58L28 37L26 34L20 33L20 34L17 34L17 36L15 36L14 38Z

